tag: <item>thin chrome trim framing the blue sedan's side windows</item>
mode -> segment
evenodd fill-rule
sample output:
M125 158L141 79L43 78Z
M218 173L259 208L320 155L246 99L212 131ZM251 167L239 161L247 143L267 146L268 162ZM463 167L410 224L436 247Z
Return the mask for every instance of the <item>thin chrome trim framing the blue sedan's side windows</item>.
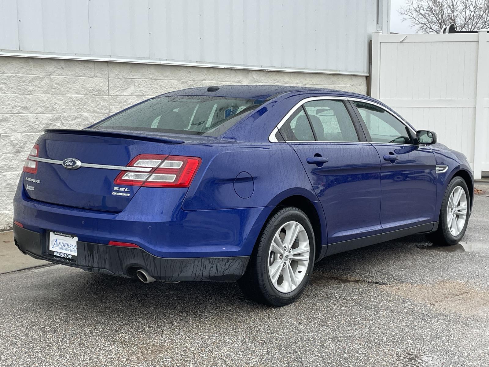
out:
M330 99L333 99L333 100L341 100L341 101L359 101L359 102L364 102L364 103L370 103L374 106L377 106L379 108L381 108L382 110L384 110L385 112L387 112L388 114L391 114L393 115L395 118L397 118L404 126L406 126L410 131L412 131L415 135L416 135L416 130L414 130L409 124L406 123L406 121L404 121L404 119L398 115L397 113L393 112L393 111L389 111L387 110L384 106L382 106L381 104L378 104L376 102L373 102L373 101L370 101L368 99L363 99L363 98L356 98L356 97L340 97L340 96L336 96L336 95L329 95L329 96L317 96L317 97L308 97L308 98L304 98L302 100L300 100L299 102L297 102L295 104L294 107L292 107L292 109L284 116L284 118L282 118L280 120L280 122L275 126L275 128L272 130L272 132L270 133L270 135L268 136L268 141L271 142L271 143L283 143L283 142L305 142L304 140L288 140L288 141L278 141L277 138L275 138L275 135L277 134L277 132L280 130L280 128L282 127L283 124L285 124L285 122L289 119L289 117L299 108L301 107L303 104L307 103L307 102L311 102L311 101L321 101L321 100L330 100ZM340 141L324 141L324 140L313 140L313 141L310 141L310 142L315 142L315 143L321 143L321 142L326 142L326 143L339 143ZM356 142L361 142L361 141L345 141L345 142L348 142L348 143L356 143ZM367 142L371 142L371 141L367 141ZM371 142L373 143L373 142ZM379 143L379 144L382 144L382 143ZM393 143L394 144L394 143ZM399 144L403 144L403 145L414 145L414 144L406 144L406 143L399 143ZM396 144L398 145L398 144Z

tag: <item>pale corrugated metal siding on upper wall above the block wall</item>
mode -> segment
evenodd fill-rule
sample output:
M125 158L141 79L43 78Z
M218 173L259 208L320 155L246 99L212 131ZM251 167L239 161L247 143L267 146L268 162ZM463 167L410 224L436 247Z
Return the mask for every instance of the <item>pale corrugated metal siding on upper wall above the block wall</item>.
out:
M0 0L0 6L0 49L356 73L368 71L368 39L377 24L377 0Z

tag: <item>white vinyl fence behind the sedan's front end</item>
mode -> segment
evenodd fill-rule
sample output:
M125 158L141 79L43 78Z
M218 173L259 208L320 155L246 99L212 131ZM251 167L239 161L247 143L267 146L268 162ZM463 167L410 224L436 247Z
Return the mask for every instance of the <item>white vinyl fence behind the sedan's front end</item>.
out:
M489 171L489 33L372 37L371 95Z

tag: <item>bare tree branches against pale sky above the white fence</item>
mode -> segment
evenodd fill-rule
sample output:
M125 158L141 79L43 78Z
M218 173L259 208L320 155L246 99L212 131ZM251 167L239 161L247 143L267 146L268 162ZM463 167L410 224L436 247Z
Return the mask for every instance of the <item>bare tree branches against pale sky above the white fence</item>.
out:
M398 12L418 33L438 33L450 23L458 30L489 27L489 0L406 0Z

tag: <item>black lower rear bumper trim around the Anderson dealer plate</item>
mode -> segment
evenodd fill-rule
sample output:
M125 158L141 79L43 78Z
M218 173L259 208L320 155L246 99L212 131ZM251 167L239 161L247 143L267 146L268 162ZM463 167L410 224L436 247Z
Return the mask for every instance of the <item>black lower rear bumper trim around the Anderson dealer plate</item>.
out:
M139 248L82 241L77 243L76 260L70 261L47 252L45 233L14 225L14 238L21 252L38 259L118 276L133 276L136 269L145 269L164 281L233 281L244 274L249 261L249 256L166 258Z

